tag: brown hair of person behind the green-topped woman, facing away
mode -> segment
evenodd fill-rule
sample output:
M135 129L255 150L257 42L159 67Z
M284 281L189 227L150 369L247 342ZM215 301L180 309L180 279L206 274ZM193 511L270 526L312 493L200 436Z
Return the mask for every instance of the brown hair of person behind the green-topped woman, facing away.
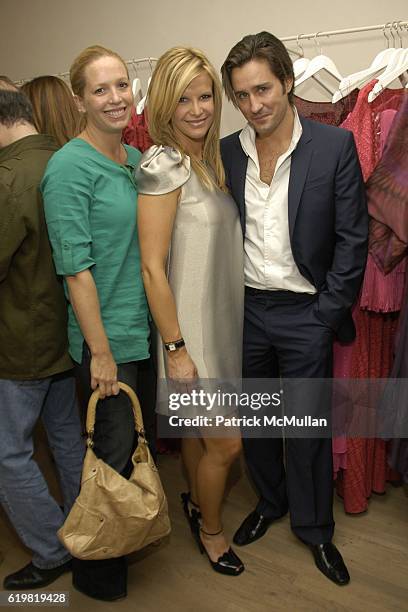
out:
M83 118L62 79L41 76L24 83L21 89L31 102L34 125L40 134L54 136L62 147L82 131Z

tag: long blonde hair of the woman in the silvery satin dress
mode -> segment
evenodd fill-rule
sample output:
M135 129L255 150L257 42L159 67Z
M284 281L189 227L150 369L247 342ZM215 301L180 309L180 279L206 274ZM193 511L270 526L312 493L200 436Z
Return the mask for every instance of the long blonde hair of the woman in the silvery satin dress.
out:
M191 166L205 187L227 191L219 145L221 83L214 67L199 49L173 47L158 60L147 96L149 133L155 144L173 147L188 155L177 139L172 119L184 91L203 71L207 72L213 83L214 120L204 140L203 159L200 161L191 157Z

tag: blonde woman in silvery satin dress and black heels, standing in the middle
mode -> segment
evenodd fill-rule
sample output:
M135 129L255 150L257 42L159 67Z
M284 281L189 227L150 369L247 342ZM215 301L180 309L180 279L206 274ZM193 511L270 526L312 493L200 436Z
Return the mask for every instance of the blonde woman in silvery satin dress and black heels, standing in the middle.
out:
M146 294L163 344L159 374L239 378L242 233L219 151L221 87L201 51L176 47L159 59L147 111L156 145L136 174L138 226ZM182 440L190 485L184 510L214 570L238 575L244 566L224 535L221 504L241 439L198 433Z

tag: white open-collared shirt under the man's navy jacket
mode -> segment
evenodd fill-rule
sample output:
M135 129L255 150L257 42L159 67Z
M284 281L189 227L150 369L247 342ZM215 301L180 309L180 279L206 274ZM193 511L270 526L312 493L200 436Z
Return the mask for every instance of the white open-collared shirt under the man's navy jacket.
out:
M276 162L270 185L260 178L255 130L249 124L239 138L248 155L245 182L245 284L270 291L316 293L316 288L299 272L289 239L288 189L291 154L302 135L296 108L292 140Z

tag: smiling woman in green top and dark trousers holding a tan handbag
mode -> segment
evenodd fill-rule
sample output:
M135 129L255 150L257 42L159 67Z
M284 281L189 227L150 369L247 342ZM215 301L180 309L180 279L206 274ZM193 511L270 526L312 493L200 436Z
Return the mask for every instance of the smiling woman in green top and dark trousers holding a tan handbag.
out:
M94 450L128 476L136 441L118 380L142 394L150 385L152 395L155 386L146 365L149 315L136 228L133 170L140 153L121 143L133 95L123 60L103 47L85 49L70 78L86 126L52 157L41 189L56 270L69 299L70 353L85 399L97 387L105 398L98 404ZM139 388L141 373L148 380ZM73 584L98 599L124 597L126 561L75 562Z

